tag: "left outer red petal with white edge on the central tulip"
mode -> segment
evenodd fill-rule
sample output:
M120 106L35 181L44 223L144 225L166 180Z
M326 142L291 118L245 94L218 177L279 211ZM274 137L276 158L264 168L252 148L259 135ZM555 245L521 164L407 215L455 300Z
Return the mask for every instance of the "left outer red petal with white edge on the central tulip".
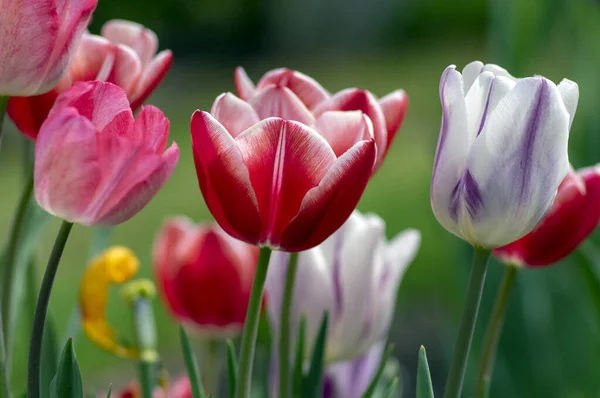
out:
M198 183L210 212L228 234L258 243L256 195L233 137L208 112L194 112L190 129Z

